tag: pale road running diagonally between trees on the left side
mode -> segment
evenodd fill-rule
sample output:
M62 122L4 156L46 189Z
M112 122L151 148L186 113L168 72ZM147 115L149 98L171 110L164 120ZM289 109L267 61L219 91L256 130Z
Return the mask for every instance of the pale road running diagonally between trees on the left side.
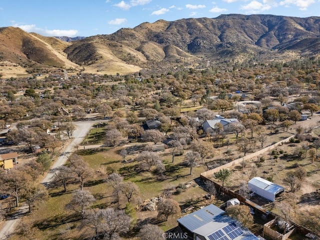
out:
M101 120L92 120L92 121L78 121L74 122L73 124L76 126L76 129L73 132L72 140L69 142L69 144L64 148L63 152L61 152L58 159L54 162L54 164L51 166L51 169L46 174L46 176L43 178L41 183L47 184L54 172L57 170L56 168L58 166L61 166L65 163L68 156L72 153L76 145L79 145L81 141L84 139L86 134L89 132L91 126L95 122L100 122ZM19 221L19 217L23 216L25 213L25 206L21 206L17 214L14 214L14 216L10 219L7 219L4 221L3 225L0 229L0 239L7 239L7 236L14 231L15 226L17 225Z

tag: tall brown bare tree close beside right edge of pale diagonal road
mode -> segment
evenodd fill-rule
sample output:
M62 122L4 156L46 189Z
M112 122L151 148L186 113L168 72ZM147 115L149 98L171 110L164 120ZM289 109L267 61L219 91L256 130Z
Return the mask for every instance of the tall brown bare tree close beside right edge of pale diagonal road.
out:
M76 179L80 182L80 189L83 189L85 180L93 176L93 170L89 167L89 164L83 161L82 157L73 154L68 158L70 169L75 174Z

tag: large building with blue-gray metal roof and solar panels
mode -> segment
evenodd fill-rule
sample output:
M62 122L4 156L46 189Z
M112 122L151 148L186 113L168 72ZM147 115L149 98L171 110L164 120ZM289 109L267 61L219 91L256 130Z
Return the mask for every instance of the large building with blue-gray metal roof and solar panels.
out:
M219 207L210 204L177 219L181 231L194 240L258 240Z

